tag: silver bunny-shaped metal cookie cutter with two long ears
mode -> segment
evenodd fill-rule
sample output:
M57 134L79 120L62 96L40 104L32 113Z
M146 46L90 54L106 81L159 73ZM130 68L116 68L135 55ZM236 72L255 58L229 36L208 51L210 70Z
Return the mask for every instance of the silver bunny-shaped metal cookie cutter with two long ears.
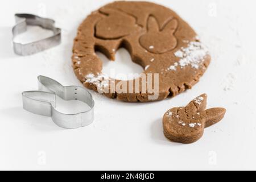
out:
M45 76L38 76L39 90L22 93L23 109L34 114L52 118L56 125L65 129L88 126L94 118L92 95L80 86L63 86ZM90 106L90 110L77 114L60 113L55 109L56 95L63 100L79 100Z

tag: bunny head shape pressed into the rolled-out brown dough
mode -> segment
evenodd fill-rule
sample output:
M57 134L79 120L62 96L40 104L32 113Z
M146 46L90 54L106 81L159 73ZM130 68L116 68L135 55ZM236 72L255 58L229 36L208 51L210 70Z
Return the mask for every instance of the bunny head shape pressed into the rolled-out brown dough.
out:
M147 33L141 36L139 43L151 53L160 54L171 51L177 46L177 39L174 36L177 26L177 20L171 19L160 29L154 16L149 16Z

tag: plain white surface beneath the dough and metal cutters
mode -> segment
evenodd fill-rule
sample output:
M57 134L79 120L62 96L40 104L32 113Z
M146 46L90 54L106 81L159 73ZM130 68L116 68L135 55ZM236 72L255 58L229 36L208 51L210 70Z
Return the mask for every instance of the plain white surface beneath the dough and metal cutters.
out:
M73 38L86 15L107 2L1 2L0 169L256 169L255 1L157 1L195 28L213 58L200 82L175 98L131 104L92 92L94 123L76 130L61 129L51 118L22 109L21 93L37 88L38 75L81 85L71 67ZM32 56L15 55L11 46L15 13L55 19L62 28L61 45ZM115 64L105 60L104 71L112 66L142 70L125 51L118 52ZM208 107L227 109L225 118L205 129L196 143L169 142L163 136L163 114L202 93L208 94Z

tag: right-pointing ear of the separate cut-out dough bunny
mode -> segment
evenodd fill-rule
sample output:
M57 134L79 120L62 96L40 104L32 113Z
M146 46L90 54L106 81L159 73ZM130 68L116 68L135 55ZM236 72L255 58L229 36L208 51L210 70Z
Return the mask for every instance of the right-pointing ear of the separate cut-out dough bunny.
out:
M204 111L205 115L205 128L214 125L215 123L221 121L224 118L226 109L218 107L211 108Z

